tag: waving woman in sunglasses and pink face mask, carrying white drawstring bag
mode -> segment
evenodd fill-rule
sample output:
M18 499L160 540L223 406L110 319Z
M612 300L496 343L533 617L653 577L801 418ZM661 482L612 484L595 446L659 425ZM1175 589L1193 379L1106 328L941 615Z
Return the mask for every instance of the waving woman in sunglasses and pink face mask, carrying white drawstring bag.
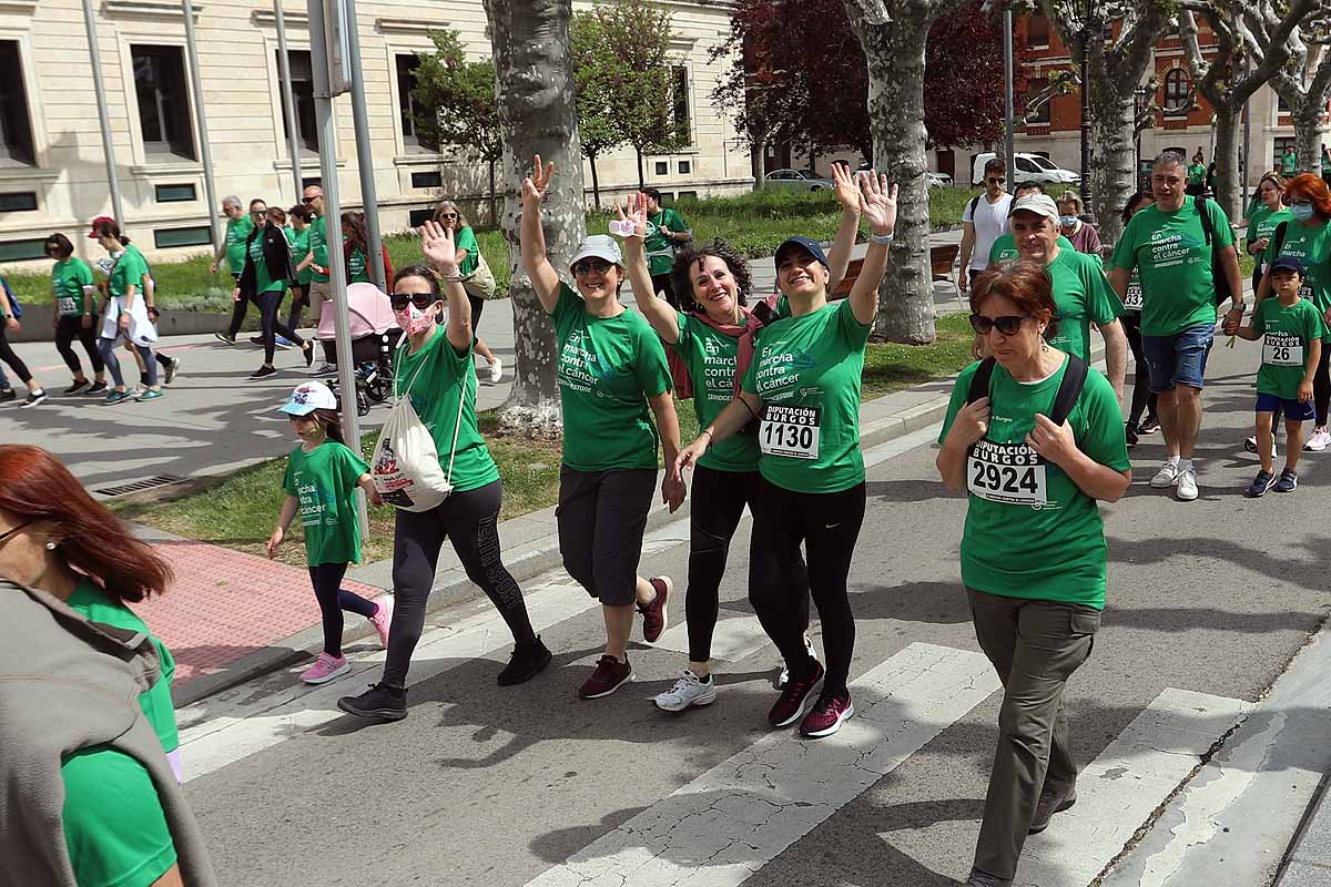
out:
M395 606L383 677L361 696L343 697L337 703L349 714L383 721L401 721L407 715L407 669L425 628L425 608L445 539L453 544L467 577L480 586L512 632L512 657L499 672L499 686L528 681L550 665L550 650L531 628L522 589L504 568L499 548L503 485L476 426L471 306L462 289L457 242L447 229L426 222L421 229L421 246L439 277L419 265L398 271L390 299L406 335L393 364L398 391L411 398L413 408L430 430L441 464L453 463L453 492L430 511L397 511L393 532ZM445 314L445 298L449 320L441 328L438 320Z

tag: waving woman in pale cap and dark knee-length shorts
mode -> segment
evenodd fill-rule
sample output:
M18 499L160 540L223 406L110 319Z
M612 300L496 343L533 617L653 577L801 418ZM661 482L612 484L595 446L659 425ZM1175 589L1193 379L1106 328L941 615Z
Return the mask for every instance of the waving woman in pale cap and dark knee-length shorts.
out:
M564 416L559 467L559 552L564 569L600 598L606 653L579 694L610 696L631 681L628 634L634 606L643 640L666 629L671 581L638 574L647 512L656 489L656 447L666 464L679 451L679 419L671 398L666 350L651 326L619 302L624 262L614 238L591 235L570 262L576 291L546 257L540 202L555 165L535 158L522 184L522 265L555 326L559 402ZM656 424L652 424L655 415ZM658 435L658 428L660 434ZM684 501L683 484L667 476L662 497L671 511Z

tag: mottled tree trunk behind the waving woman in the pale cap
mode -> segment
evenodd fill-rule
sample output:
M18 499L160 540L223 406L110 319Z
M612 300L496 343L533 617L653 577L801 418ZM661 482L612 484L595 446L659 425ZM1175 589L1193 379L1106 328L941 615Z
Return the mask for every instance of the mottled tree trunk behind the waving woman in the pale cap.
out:
M554 439L563 431L554 327L522 270L518 230L522 180L531 174L532 154L540 154L558 170L542 213L546 247L556 269L567 267L583 238L582 149L568 61L572 0L484 0L484 7L504 144L502 227L510 245L516 352L512 391L500 407L500 430Z

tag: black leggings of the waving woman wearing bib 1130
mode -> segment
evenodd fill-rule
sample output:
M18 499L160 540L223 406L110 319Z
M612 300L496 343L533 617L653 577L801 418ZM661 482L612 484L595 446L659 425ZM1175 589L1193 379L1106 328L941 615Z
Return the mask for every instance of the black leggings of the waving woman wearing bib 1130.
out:
M800 543L808 551L809 593L823 624L827 677L823 693L845 692L855 653L855 614L847 594L851 557L864 524L865 489L860 481L835 493L799 493L763 480L753 509L749 602L768 637L781 650L792 680L807 677L813 660L804 649L800 610L791 576L799 569Z

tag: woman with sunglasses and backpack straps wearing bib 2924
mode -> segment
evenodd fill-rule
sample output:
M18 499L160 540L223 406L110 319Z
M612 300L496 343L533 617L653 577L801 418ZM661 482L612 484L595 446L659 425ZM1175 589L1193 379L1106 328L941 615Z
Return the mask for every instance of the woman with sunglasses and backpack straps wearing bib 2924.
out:
M966 882L996 887L1016 878L1028 832L1042 831L1077 801L1063 688L1090 656L1105 609L1097 501L1123 495L1131 463L1118 398L1098 371L1086 370L1061 426L1049 419L1075 358L1047 342L1057 309L1044 267L1018 261L982 274L970 310L993 363L957 378L937 467L948 489L969 491L961 581L976 638L1004 685L998 750ZM992 370L988 396L970 402L981 366Z

